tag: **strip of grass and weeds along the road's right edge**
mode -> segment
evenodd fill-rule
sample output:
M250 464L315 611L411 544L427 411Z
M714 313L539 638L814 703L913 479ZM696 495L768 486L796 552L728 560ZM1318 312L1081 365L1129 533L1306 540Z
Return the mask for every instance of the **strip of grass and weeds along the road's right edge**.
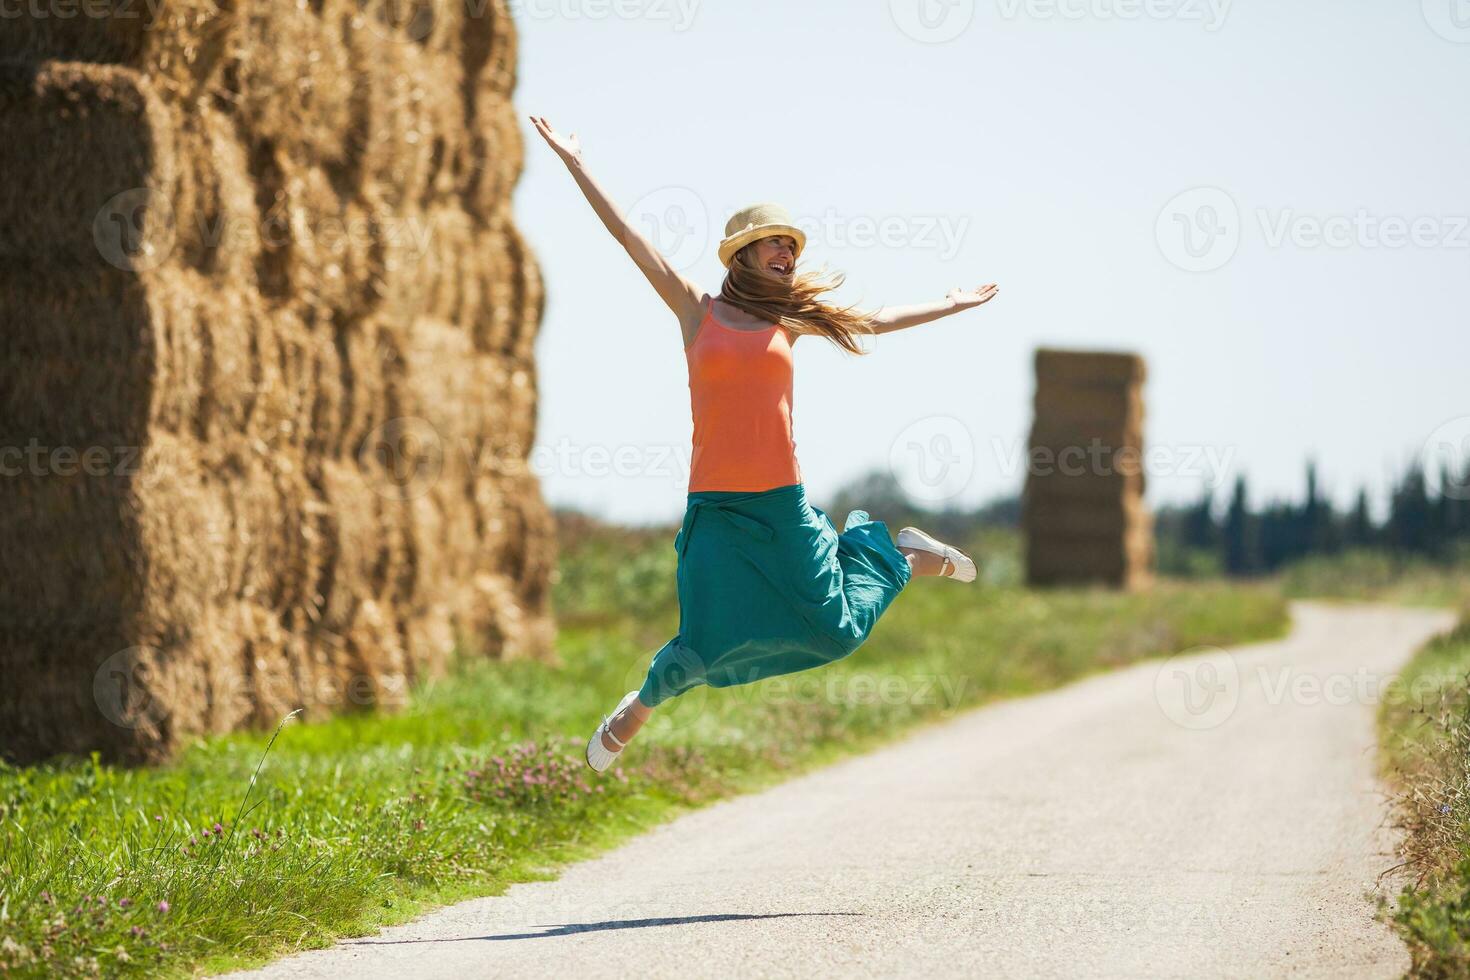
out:
M1414 977L1470 976L1470 613L1427 644L1379 711L1411 883L1389 915Z

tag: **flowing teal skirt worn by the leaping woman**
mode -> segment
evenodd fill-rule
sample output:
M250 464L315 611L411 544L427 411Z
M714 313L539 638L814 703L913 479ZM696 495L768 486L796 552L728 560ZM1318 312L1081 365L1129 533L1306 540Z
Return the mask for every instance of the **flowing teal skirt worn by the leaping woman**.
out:
M679 633L638 692L653 707L847 657L913 572L886 525L853 511L838 533L801 483L691 492L679 552Z

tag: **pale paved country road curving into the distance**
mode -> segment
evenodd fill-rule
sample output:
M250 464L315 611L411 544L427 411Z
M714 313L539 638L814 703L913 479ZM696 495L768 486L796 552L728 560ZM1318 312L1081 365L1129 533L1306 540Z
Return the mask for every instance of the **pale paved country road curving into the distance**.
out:
M253 976L1399 976L1372 902L1395 864L1374 702L1452 617L1294 617L1282 642L972 711Z

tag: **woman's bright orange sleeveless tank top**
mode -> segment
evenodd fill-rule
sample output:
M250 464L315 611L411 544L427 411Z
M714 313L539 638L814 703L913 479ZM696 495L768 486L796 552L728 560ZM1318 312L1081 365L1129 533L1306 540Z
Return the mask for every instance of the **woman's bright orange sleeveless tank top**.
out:
M689 492L763 491L801 482L791 428L792 338L773 323L763 331L726 326L714 300L685 348L694 455Z

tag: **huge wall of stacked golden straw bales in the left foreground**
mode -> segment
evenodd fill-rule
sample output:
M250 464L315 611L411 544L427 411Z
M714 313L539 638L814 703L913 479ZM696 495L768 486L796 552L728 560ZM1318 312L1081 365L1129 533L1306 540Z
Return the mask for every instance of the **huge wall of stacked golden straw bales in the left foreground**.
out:
M0 31L0 754L545 655L504 0L46 7Z

